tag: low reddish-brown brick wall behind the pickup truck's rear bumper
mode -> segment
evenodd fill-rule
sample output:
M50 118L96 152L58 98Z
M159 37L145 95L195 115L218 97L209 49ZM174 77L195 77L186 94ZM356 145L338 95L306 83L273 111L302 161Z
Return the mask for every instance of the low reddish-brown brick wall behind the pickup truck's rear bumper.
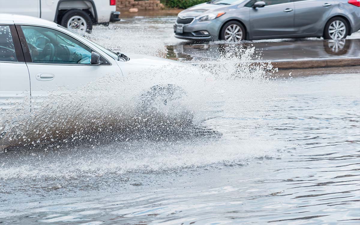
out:
M135 0L117 0L116 10L129 10L137 8L139 10L158 10L163 9L163 4L159 0L135 1Z

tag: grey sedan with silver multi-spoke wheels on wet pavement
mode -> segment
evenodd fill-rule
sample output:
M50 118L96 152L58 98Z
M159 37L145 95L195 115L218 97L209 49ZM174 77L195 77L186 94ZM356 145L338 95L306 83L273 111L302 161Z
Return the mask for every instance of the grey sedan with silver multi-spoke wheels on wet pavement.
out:
M324 37L360 30L360 0L212 0L179 13L175 37L242 40Z

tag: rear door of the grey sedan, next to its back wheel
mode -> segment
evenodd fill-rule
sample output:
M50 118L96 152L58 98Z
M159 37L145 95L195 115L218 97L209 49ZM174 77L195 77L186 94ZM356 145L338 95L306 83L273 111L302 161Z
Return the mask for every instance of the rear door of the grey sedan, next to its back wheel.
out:
M293 0L295 7L296 34L323 34L325 23L331 12L333 0Z

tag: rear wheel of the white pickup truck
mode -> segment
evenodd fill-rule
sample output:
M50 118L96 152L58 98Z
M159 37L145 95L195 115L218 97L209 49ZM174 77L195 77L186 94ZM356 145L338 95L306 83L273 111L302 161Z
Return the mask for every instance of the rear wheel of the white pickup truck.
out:
M80 30L91 33L93 30L93 22L90 15L84 10L71 9L67 11L60 22L60 25L68 28L69 30Z

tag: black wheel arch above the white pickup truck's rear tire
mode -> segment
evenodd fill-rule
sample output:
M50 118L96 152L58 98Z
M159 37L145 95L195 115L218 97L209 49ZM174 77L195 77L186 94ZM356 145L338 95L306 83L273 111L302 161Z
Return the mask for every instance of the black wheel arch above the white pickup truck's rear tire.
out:
M93 21L93 24L97 23L98 22L98 14L97 14L97 11L96 11L96 6L95 6L95 3L94 3L94 0L59 0L58 1L58 5L56 7L56 13L55 13L55 18L54 18L54 22L55 23L59 23L61 21L61 17L63 14L65 14L68 10L71 10L71 9L78 9L78 8L68 8L68 9L61 9L62 6L64 5L69 5L69 4L81 4L81 3L84 3L86 4L89 3L91 5L91 8L92 8L92 11L91 12L91 8L90 10L89 9L81 9L81 10L84 10L86 13L88 13L90 15L90 18L91 20Z

